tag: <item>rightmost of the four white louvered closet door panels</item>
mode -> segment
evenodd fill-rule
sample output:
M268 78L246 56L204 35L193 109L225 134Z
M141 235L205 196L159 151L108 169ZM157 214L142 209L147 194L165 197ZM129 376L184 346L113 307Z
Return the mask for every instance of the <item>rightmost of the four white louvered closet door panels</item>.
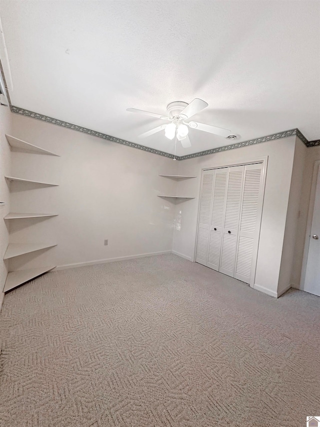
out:
M262 209L261 173L262 163L244 166L234 277L245 283L250 283L251 274L254 274L252 264L256 261L259 237L257 221Z

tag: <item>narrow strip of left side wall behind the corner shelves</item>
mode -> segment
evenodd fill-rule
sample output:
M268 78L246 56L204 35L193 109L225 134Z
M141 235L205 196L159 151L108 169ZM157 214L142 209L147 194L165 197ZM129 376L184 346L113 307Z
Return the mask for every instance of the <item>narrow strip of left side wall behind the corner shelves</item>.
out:
M4 206L0 206L0 309L3 301L2 289L7 275L6 264L2 260L6 247L8 245L8 229L3 217L9 212L9 190L4 179L4 175L8 175L10 171L10 149L5 139L5 133L11 131L12 113L8 107L0 106L0 201L5 202Z

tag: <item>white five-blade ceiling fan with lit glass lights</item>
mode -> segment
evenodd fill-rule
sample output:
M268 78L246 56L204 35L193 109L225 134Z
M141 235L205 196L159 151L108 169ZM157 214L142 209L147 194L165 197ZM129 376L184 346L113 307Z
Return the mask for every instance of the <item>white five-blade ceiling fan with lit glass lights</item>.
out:
M136 108L127 108L126 111L132 113L145 114L147 116L156 117L161 120L168 120L170 123L167 125L161 125L150 131L144 132L139 135L140 138L146 138L150 135L155 134L164 130L164 134L168 139L173 139L175 136L178 141L181 142L183 148L191 147L191 143L188 137L189 127L192 129L198 129L199 131L209 132L214 135L219 135L227 139L235 139L236 135L231 135L231 131L227 129L217 128L216 126L206 125L198 122L186 122L185 120L190 119L195 114L206 108L208 104L199 98L195 98L190 104L182 101L171 102L166 107L167 116L161 114L151 113L149 111L138 110Z

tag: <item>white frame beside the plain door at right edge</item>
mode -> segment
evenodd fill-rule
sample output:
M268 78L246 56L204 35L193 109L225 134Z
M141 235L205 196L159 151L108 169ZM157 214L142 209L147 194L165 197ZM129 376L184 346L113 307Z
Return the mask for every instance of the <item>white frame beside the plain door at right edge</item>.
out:
M315 162L313 163L312 184L311 184L311 191L310 191L310 198L309 198L308 216L307 216L306 228L305 228L304 249L303 249L302 266L301 266L301 277L300 277L300 284L299 284L299 289L302 291L304 290L306 264L307 264L307 260L308 260L312 217L313 217L313 209L314 209L314 202L315 202L315 190L316 190L316 182L317 182L319 168L320 168L320 160L315 160Z

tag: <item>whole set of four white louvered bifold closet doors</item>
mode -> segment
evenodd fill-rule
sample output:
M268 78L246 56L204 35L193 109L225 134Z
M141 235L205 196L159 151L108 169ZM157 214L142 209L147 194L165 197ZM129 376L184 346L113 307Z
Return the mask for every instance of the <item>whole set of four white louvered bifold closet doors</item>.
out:
M250 283L262 210L262 166L203 171L195 261Z

